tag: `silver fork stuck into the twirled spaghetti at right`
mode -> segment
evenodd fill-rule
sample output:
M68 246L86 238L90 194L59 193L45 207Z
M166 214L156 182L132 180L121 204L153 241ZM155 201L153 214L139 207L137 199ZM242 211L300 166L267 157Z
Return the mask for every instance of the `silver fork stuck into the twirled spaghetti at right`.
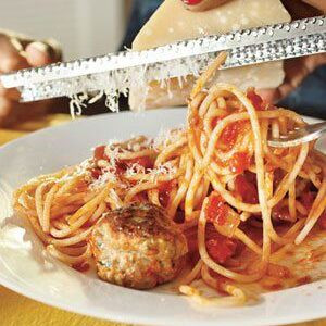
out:
M309 142L322 137L326 131L326 121L305 125L289 133L289 135L279 138L269 138L267 140L271 147L294 147L304 142Z

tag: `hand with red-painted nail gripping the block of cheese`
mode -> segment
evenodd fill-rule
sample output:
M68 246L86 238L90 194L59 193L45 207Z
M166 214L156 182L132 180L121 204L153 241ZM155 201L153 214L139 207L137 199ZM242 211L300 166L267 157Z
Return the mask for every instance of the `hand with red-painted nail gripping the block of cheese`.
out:
M201 0L191 4L191 0L180 0L185 3L188 10L191 11L205 11L224 4L230 0ZM190 1L190 2L189 2ZM302 0L303 2L293 2L294 0L284 0L284 4L294 18L303 17L302 13L310 12L312 15L326 13L326 1L322 0ZM294 88L297 88L302 80L312 73L319 65L326 64L326 54L316 54L310 57L302 57L298 59L290 59L285 61L285 80L276 89L260 90L260 95L267 102L277 102L285 98Z

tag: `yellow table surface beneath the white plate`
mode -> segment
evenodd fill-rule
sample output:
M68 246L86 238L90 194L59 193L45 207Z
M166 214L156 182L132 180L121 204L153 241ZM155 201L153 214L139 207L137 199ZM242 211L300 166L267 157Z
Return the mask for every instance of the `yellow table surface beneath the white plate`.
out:
M14 129L0 129L0 145L24 136L30 131L62 124L70 120L68 115L53 114L39 121L33 121L15 126ZM217 324L218 322L216 322ZM5 326L118 326L122 324L103 322L96 318L65 312L0 286L0 325ZM292 324L292 326L326 326L326 318L315 322Z

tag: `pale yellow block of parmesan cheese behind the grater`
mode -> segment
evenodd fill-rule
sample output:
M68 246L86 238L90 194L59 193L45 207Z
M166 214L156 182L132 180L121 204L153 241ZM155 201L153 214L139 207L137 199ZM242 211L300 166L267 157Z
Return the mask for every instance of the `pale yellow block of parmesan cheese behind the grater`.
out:
M180 0L165 0L133 42L133 50L146 50L183 39L198 38L213 34L225 34L238 29L252 28L275 23L289 22L290 15L280 0L233 0L205 12L187 10ZM146 108L181 105L193 85L193 76L179 85L171 79L151 83L146 95ZM284 79L281 62L271 62L239 68L220 71L215 82L235 84L241 89L277 87ZM143 90L131 89L130 108L143 105Z

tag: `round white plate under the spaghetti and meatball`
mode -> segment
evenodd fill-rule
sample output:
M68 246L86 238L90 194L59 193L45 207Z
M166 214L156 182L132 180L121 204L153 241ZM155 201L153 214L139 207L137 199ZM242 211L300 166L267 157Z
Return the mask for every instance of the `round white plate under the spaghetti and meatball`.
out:
M78 273L42 254L27 225L12 216L12 190L29 178L78 163L110 138L179 126L186 110L100 115L45 129L0 149L0 284L68 311L149 325L276 325L325 316L326 281L263 296L243 308L203 308L187 298L136 291ZM312 122L312 120L310 120ZM325 143L323 150L326 150Z

